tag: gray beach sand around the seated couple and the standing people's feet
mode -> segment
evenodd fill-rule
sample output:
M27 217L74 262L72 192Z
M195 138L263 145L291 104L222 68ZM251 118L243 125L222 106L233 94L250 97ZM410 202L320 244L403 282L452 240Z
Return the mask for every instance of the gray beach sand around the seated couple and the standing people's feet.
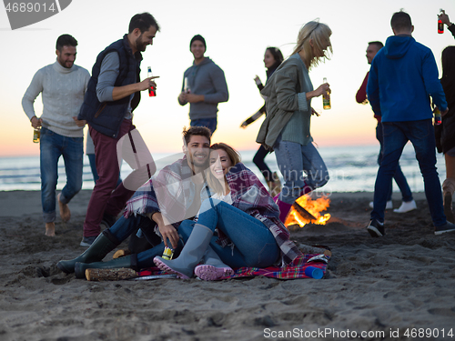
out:
M291 234L331 248L323 279L221 282L88 282L63 274L56 262L84 250L78 245L89 196L74 198L71 220L57 217L51 238L39 192L0 192L0 340L455 337L455 233L434 236L421 193L417 211L386 212L382 238L365 229L371 193L333 194L327 226Z

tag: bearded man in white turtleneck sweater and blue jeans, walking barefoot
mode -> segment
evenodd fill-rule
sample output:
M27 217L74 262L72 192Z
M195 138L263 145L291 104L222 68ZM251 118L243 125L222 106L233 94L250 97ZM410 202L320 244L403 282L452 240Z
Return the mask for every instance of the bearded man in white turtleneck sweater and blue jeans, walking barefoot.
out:
M45 236L55 236L57 164L63 155L66 186L57 196L60 216L68 221L67 206L82 187L84 146L83 128L86 121L76 118L84 101L90 74L75 65L77 41L71 35L60 35L56 41L56 63L38 70L25 91L22 106L32 126L41 126L40 167L41 204L45 220ZM43 97L43 114L35 115L34 103Z

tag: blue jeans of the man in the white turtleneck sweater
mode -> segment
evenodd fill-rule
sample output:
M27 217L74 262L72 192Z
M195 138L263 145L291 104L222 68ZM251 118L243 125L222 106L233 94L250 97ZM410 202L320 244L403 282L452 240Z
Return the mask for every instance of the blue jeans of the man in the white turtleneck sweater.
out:
M41 128L40 169L41 204L45 223L56 220L56 184L58 159L63 155L66 170L66 186L62 189L60 201L67 204L82 188L82 167L84 137L67 137Z

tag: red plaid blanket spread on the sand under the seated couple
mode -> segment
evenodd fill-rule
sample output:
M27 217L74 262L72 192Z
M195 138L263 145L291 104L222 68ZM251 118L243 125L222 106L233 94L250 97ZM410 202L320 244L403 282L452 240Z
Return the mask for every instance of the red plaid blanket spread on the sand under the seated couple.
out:
M228 278L239 278L239 277L254 277L254 276L265 276L270 278L279 279L297 279L297 278L310 278L305 275L305 269L308 266L318 267L326 276L327 264L324 262L311 262L307 263L308 259L317 255L302 255L298 256L288 266L269 266L265 268L258 267L239 267L234 270L233 276L223 277L221 279ZM328 257L329 258L329 257ZM138 276L151 276L151 275L162 275L165 272L159 270L157 267L150 267L144 269L138 273Z

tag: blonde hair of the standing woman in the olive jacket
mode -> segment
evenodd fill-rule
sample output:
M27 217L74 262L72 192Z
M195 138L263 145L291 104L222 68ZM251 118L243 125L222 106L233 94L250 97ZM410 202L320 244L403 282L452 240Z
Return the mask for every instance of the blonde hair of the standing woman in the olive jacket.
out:
M308 22L302 28L300 28L300 31L298 31L297 45L292 55L297 54L303 50L307 59L305 61L305 65L307 66L308 70L313 66L319 65L319 61L321 59L330 59L329 53L333 53L332 45L330 44L330 35L332 35L332 31L328 25L321 24L317 21ZM309 45L309 41L311 39L313 40L314 49L318 51L319 54L323 54L323 56L316 56L313 53L313 48L311 48L311 45ZM326 45L329 46L326 50L324 50Z

